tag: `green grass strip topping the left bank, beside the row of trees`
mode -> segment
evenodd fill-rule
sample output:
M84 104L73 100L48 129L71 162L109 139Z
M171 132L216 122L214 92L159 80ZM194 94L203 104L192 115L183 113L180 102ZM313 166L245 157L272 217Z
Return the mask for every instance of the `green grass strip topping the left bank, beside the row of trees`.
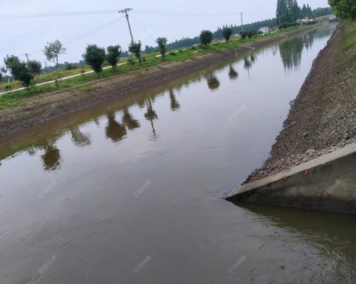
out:
M239 47L241 44L253 43L261 38L273 38L283 33L288 33L291 31L295 31L300 29L300 27L287 28L283 31L277 31L275 33L270 33L267 35L254 35L252 38L246 38L245 40L241 39L232 39L229 43L215 42L211 43L207 47L199 45L193 46L189 48L181 48L177 50L175 53L168 53L164 62L172 62L172 61L184 61L184 60L194 60L198 56L206 55L209 53L219 53L223 50L234 50ZM120 61L119 63L127 62ZM140 66L137 62L132 64L127 62L127 64L117 66L115 68L115 72L113 72L112 68L108 68L103 70L101 73L102 78L108 78L115 75L125 74L127 72L135 72L135 70L141 70L148 67L152 67L155 65L159 65L162 63L162 58L157 57L157 53L151 53L143 56L142 65ZM90 70L90 68L86 67L85 71ZM16 106L25 105L24 100L28 97L33 97L37 94L45 94L48 92L55 92L61 90L72 89L74 87L83 86L83 84L88 84L89 82L93 82L98 80L98 76L92 72L84 75L80 75L78 77L73 77L68 80L58 80L61 77L68 77L70 75L80 74L80 69L77 70L58 70L56 72L51 72L45 75L39 75L35 84L39 82L48 82L51 80L56 80L56 82L43 84L41 86L34 86L30 90L19 90L14 91L9 94L4 94L0 96L0 109L7 109ZM14 84L19 84L18 82L14 82Z

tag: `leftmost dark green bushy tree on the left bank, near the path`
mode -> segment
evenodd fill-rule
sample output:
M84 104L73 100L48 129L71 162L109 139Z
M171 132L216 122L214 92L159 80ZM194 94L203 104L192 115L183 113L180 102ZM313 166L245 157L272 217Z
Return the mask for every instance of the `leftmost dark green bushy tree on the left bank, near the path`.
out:
M20 61L17 56L6 55L4 63L6 68L10 71L12 77L14 77L14 80L19 80L23 87L26 87L26 89L31 87L34 75L25 62Z

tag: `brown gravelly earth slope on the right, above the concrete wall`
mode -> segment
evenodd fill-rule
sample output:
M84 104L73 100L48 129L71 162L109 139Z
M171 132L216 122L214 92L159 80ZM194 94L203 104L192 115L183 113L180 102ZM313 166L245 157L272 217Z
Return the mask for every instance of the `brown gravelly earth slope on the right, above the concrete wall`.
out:
M291 104L283 130L253 182L356 142L356 23L340 24Z

